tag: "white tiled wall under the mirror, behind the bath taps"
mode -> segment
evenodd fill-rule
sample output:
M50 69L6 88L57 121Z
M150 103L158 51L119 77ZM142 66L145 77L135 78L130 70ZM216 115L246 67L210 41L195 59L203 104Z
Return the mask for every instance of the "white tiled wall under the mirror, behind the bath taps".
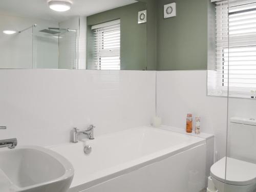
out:
M51 145L72 127L95 136L146 125L155 115L154 71L0 70L0 139Z

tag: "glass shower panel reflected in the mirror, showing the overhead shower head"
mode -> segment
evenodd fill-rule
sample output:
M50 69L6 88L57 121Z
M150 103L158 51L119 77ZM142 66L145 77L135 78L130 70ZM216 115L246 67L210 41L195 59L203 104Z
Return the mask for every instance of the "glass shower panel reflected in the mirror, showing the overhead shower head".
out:
M77 30L33 27L33 69L76 69Z

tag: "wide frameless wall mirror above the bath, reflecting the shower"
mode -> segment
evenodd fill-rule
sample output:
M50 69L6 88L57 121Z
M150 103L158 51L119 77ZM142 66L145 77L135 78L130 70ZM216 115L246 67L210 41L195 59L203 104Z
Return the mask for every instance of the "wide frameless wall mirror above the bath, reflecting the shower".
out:
M146 9L134 0L1 0L0 69L146 70Z

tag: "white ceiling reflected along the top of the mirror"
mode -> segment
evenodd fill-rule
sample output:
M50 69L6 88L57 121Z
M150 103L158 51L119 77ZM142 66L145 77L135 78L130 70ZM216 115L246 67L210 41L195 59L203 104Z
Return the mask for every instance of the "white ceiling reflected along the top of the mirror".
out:
M0 14L62 22L73 16L89 16L102 11L136 3L134 0L72 0L69 11L56 12L47 0L0 0Z

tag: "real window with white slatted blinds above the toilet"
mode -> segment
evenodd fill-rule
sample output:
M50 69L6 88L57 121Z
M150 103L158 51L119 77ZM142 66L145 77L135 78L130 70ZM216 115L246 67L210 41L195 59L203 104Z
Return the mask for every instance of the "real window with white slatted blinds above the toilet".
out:
M256 90L256 0L216 2L216 66L208 94L250 97Z

